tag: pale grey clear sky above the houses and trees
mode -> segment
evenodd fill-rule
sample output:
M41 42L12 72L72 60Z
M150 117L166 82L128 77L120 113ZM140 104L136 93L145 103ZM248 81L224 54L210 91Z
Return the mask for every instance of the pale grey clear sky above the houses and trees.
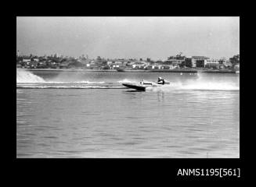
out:
M240 54L240 17L16 17L20 55L151 58Z

